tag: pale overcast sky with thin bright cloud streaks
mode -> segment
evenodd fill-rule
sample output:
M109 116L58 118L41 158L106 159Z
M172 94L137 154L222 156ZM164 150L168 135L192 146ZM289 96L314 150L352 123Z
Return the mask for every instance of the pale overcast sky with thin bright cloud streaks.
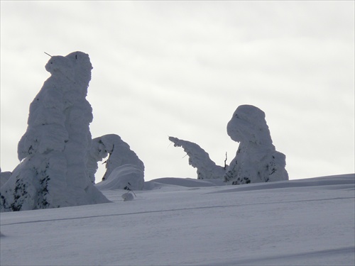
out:
M44 52L77 50L92 137L120 135L146 180L197 177L169 135L230 162L241 104L266 113L290 179L355 172L354 1L1 1L1 171L18 165Z

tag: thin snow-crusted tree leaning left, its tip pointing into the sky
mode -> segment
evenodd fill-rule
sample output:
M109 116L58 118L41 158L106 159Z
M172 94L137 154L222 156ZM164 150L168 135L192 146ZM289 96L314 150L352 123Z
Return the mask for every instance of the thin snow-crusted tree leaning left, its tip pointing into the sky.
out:
M224 167L216 165L208 153L196 143L169 137L175 147L182 147L189 156L189 164L197 168L197 179L222 179Z

